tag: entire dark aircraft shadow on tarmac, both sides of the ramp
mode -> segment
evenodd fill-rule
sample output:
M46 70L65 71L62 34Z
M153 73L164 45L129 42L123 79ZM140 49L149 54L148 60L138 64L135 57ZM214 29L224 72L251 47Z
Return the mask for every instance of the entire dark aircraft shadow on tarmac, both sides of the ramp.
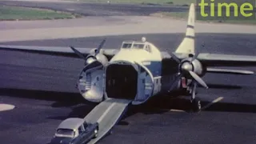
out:
M240 86L223 86L223 85L210 85L212 88L220 89L240 89ZM40 100L54 101L51 105L54 108L70 107L71 112L66 116L49 117L50 119L64 120L66 118L84 118L89 114L94 106L98 103L87 102L80 94L68 92L55 92L43 90L21 90L21 89L0 89L1 95L8 95L18 98L33 98ZM170 98L169 96L174 96ZM118 125L129 125L128 122L122 121L131 115L142 114L162 114L169 112L171 109L184 110L191 112L189 98L178 98L178 93L168 95L159 95L158 97L150 98L148 102L139 106L129 106L124 117L118 122ZM202 107L210 102L202 101ZM241 112L241 113L256 113L256 105L230 103L230 102L217 102L214 105L206 108L203 111L226 111L226 112Z

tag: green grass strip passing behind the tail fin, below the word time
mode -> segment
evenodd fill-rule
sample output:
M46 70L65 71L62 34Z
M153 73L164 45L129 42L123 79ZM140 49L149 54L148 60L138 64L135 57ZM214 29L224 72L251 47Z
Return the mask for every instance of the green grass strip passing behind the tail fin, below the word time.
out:
M187 20L188 12L162 12L157 14L152 14L154 16L170 17L174 19ZM197 20L199 22L218 22L218 23L233 23L233 24L252 24L256 25L256 19L241 19L241 18L220 18L220 19L210 19L204 18Z

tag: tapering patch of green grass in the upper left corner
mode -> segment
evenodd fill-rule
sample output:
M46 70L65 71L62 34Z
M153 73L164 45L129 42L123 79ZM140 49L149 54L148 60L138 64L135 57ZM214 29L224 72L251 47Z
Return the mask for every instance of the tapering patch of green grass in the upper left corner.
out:
M17 6L0 6L0 20L35 20L75 17L78 17L78 15L56 12L54 10L42 10Z

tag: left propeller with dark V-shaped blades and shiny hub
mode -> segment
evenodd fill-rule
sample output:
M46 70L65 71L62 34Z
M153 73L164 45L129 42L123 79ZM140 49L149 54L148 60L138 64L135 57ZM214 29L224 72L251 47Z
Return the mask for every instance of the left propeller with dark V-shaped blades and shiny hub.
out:
M78 54L80 58L84 59L86 63L90 63L90 62L94 62L94 60L96 59L95 58L96 55L100 52L105 42L106 42L106 38L104 38L102 42L99 44L98 48L95 50L95 53L90 54L87 57L84 54L82 54L80 51L76 50L73 46L70 46L70 48L74 51L75 54Z

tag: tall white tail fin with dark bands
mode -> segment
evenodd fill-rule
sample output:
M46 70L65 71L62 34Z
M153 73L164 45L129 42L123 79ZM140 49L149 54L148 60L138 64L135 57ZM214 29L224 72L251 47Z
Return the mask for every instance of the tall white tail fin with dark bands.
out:
M186 26L186 37L178 46L175 53L194 54L194 21L195 21L194 3L191 3L187 26Z

